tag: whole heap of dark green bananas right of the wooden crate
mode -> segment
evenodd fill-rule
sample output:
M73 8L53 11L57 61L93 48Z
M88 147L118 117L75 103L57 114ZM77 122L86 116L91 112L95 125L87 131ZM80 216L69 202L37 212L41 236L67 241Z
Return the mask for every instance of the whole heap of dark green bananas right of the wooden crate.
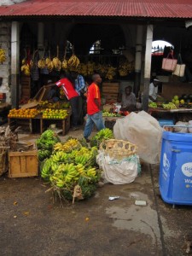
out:
M36 141L38 148L38 160L43 161L48 158L52 154L55 143L59 142L60 138L55 135L54 131L44 131Z

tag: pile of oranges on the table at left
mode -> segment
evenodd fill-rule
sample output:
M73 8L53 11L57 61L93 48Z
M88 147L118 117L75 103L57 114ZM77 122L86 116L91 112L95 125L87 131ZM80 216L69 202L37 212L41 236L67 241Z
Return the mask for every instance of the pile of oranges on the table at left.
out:
M16 109L13 108L9 111L8 117L9 118L34 118L38 115L39 111L36 108L20 108Z

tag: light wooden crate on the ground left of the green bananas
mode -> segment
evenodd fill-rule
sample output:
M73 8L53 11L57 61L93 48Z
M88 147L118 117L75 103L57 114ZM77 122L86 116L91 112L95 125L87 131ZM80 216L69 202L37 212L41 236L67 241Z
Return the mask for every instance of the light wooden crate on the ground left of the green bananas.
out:
M38 176L38 150L9 152L9 177Z

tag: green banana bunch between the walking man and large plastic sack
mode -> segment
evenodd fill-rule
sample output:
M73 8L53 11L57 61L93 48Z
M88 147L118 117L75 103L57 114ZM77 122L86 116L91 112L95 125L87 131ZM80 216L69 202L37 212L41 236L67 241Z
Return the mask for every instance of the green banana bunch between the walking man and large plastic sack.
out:
M102 129L101 131L98 131L94 137L91 138L90 146L99 147L103 140L108 140L112 138L114 138L113 131L111 131L109 128Z

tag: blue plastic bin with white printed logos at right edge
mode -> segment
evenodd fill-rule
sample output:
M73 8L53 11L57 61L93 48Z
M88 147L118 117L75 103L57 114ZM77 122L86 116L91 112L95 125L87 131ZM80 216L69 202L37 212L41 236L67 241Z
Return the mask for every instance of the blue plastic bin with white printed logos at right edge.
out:
M192 205L192 134L163 131L160 195L173 205Z

